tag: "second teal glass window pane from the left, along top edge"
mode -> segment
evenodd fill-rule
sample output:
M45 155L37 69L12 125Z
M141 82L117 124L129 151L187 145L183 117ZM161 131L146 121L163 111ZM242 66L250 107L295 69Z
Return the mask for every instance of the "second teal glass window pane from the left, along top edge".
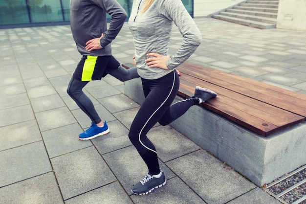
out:
M31 23L63 21L60 0L27 0Z

